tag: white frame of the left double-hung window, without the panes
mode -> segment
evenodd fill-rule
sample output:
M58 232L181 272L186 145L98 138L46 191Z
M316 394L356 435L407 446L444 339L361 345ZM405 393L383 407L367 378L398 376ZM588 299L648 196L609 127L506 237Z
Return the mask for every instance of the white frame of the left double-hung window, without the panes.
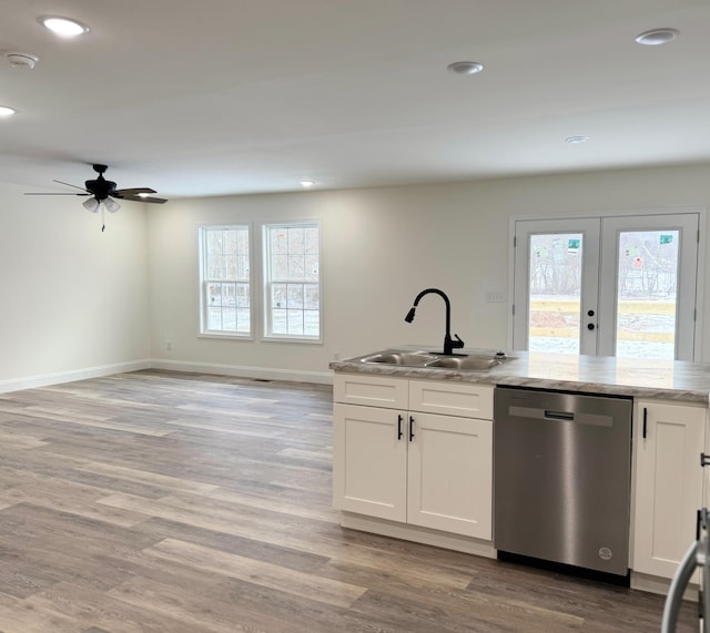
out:
M248 247L248 274L247 280L242 279L210 279L205 276L207 270L207 235L212 231L246 231ZM199 245L199 333L201 338L234 338L240 340L253 340L255 338L255 324L257 323L257 309L254 303L254 245L253 229L250 223L230 223L230 224L204 224L197 227L197 245ZM248 315L250 328L248 333L226 329L211 329L209 327L209 302L207 287L211 283L234 283L248 285Z

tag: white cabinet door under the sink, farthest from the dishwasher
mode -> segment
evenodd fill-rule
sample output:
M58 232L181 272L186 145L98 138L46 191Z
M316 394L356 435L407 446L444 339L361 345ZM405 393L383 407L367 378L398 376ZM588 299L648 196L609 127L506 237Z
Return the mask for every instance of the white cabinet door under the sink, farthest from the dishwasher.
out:
M333 506L368 517L406 521L406 415L335 404L333 433Z

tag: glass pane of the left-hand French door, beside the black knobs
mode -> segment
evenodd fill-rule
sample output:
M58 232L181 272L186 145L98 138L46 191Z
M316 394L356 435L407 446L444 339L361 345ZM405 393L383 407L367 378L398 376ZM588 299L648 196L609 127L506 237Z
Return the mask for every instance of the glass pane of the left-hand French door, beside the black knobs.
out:
M579 354L582 234L530 235L528 349Z

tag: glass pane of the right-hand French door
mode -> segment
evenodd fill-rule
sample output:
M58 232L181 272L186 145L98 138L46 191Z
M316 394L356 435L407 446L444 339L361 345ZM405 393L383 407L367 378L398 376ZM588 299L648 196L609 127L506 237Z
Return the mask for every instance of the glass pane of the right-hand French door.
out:
M616 355L676 356L679 231L619 233Z

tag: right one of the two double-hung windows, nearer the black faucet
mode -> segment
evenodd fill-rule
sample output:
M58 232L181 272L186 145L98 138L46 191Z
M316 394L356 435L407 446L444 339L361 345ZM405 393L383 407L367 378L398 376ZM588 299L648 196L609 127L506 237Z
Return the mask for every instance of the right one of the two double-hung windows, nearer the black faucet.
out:
M264 337L321 339L321 228L265 224Z

